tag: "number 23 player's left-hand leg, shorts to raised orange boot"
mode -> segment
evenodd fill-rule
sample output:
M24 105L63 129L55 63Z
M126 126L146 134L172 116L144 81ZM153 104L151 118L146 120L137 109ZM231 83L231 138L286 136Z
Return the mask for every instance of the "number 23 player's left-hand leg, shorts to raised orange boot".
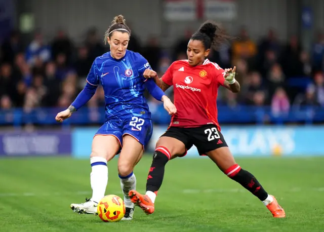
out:
M185 154L185 144L187 144L187 148L190 146L187 135L181 133L181 129L173 128L168 130L157 141L147 177L146 194L141 195L135 190L129 192L132 202L141 207L146 214L154 212L154 202L157 191L163 182L166 164L169 160Z

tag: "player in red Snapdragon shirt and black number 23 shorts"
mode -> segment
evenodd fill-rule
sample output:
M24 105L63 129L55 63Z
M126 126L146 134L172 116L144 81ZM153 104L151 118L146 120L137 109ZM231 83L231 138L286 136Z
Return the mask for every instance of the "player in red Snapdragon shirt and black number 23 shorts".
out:
M229 38L213 22L205 22L188 43L188 60L175 61L161 79L150 70L146 78L154 77L156 84L166 90L174 87L174 103L177 113L173 115L168 130L159 138L149 170L146 194L135 190L129 192L133 203L146 214L154 212L154 201L160 188L169 160L182 157L195 145L200 155L208 156L229 178L235 180L259 198L273 217L286 217L276 199L268 195L259 181L236 164L217 121L217 91L223 86L239 92L235 81L235 67L222 69L206 57L210 48Z

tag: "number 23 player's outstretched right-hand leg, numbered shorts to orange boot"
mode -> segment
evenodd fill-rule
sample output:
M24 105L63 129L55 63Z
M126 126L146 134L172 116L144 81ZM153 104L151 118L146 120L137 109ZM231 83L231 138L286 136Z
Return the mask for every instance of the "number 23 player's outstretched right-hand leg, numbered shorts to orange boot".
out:
M207 138L205 138L204 142L202 138L205 134ZM259 181L250 172L236 164L223 135L215 127L204 128L204 134L200 133L200 135L197 144L200 154L206 154L229 178L235 180L259 198L274 217L285 217L285 211L279 206L276 199L267 194Z

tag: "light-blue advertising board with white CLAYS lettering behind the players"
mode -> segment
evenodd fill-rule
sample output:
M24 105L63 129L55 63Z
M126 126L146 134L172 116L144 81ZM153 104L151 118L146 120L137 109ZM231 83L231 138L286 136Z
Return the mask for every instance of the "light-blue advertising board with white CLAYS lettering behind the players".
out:
M146 151L153 151L167 127L153 128ZM75 129L72 133L74 157L87 157L97 128ZM230 126L222 127L224 138L235 157L242 156L324 156L324 126ZM207 138L206 138L207 139ZM186 157L198 157L195 147Z

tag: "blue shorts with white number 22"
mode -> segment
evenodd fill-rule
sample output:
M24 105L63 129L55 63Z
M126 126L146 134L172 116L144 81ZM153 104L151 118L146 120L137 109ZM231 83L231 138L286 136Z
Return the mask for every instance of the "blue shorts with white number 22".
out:
M152 120L141 119L140 117L130 117L124 121L109 120L102 125L96 135L112 135L115 136L120 147L123 147L123 136L131 135L139 141L143 147L147 145L151 139L153 132Z

